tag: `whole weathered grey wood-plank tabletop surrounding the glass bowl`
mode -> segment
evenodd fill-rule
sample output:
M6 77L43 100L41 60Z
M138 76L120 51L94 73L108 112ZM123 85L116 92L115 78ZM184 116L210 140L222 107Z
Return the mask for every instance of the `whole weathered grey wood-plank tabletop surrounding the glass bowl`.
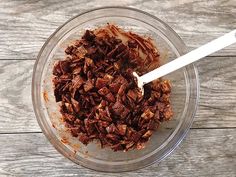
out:
M236 176L236 45L196 63L201 96L194 123L160 164L99 173L75 165L47 141L31 103L36 56L58 26L104 5L135 7L159 17L190 49L236 27L236 0L1 0L0 176Z

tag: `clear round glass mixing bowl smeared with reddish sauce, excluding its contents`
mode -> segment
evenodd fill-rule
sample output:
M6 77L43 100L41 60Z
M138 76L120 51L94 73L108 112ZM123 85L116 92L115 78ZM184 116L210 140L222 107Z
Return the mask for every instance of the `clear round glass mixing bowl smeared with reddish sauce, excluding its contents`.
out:
M144 149L113 152L108 148L101 149L96 142L88 146L81 144L63 125L53 95L52 68L55 61L64 58L67 45L80 38L86 29L95 29L107 22L150 36L160 51L162 64L186 52L180 37L167 24L148 13L124 7L104 7L84 12L59 27L39 52L33 72L33 106L43 133L65 157L98 171L130 171L161 161L183 140L196 112L199 82L194 65L165 77L172 82L174 117L161 124Z

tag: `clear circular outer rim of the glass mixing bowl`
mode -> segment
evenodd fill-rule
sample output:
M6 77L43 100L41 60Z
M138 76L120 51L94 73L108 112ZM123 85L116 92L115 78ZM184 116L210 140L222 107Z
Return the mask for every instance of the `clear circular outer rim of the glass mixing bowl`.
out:
M37 118L37 121L44 133L44 135L48 138L48 140L51 142L51 144L61 153L63 154L65 157L67 157L68 159L70 159L71 161L82 165L84 167L93 169L93 170L98 170L98 171L104 171L104 172L121 172L121 171L131 171L131 170L136 170L136 169L140 169L143 167L146 167L148 165L151 165L155 162L160 162L162 159L164 159L166 156L168 156L179 144L180 142L184 139L184 137L186 136L188 130L190 129L192 122L193 122L193 118L195 116L196 110L197 110L197 103L199 100L199 80L198 80L198 73L197 73L197 69L196 67L191 64L189 66L186 67L186 70L190 73L190 75L193 77L192 80L190 81L190 86L192 88L190 88L190 97L191 97L191 102L190 104L192 104L192 106L190 105L190 107L192 107L191 110L189 112L189 117L186 118L185 122L182 122L181 125L178 128L178 131L175 131L175 134L171 135L171 137L168 138L168 142L165 142L165 146L164 148L161 149L161 151L158 151L154 154L152 154L152 156L148 157L147 159L143 159L142 161L139 161L135 164L121 164L121 165L116 165L116 166L108 166L104 165L104 164L96 164L94 162L90 162L90 161L86 161L86 159L83 159L81 157L81 159L77 159L74 156L71 156L69 152L65 151L65 148L63 148L63 143L61 143L60 141L57 141L55 139L55 136L51 134L51 132L49 131L49 128L47 127L47 122L45 122L45 118L44 115L40 109L40 97L42 94L42 91L40 90L40 84L41 84L41 74L39 71L41 71L43 69L43 65L42 62L46 61L47 58L42 58L42 54L46 51L46 48L48 47L48 44L53 41L53 37L55 35L57 35L59 33L60 30L62 30L63 28L65 28L66 25L68 25L70 22L72 22L74 19L76 18L80 18L83 15L89 14L91 12L102 12L104 10L114 10L114 9L119 9L119 10L123 10L123 11L127 11L127 12L132 12L132 13L138 13L138 14L142 14L144 16L146 16L147 18L150 18L152 20L154 20L156 23L158 23L159 25L161 25L165 30L166 33L168 33L168 35L170 35L170 37L168 39L172 39L171 42L173 43L173 45L177 47L177 50L179 52L179 54L184 54L187 50L186 50L186 46L184 44L184 42L182 41L182 39L178 36L178 34L172 30L171 27L169 27L166 23L164 23L163 21L161 21L160 19L158 19L157 17L150 15L149 13L143 12L141 10L138 9L134 9L134 8L130 8L130 7L119 7L119 6L107 6L107 7L102 7L102 8L96 8L96 9L92 9L86 12L83 12L71 19L69 19L66 23L64 23L62 26L60 26L48 39L47 41L44 43L43 47L41 48L37 60L35 62L34 65L34 70L33 70L33 78L32 78L32 102L33 102L33 108L34 108L34 112ZM92 18L92 17L91 17ZM167 144L168 143L168 144Z

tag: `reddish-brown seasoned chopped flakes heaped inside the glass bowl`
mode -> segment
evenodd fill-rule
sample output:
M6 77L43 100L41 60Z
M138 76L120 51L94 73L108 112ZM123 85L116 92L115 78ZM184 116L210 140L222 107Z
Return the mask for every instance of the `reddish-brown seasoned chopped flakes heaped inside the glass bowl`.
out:
M54 64L53 84L63 121L85 145L99 140L114 151L142 149L161 122L172 118L170 81L138 88L142 75L160 66L148 37L108 24L86 30Z

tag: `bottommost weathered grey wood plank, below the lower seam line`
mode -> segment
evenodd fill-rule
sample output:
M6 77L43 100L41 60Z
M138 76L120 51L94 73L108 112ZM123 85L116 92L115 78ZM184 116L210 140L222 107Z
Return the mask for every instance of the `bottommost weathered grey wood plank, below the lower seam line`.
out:
M162 163L119 174L95 172L60 155L41 133L0 135L0 175L9 176L235 176L236 131L191 130ZM227 163L226 163L227 162Z

